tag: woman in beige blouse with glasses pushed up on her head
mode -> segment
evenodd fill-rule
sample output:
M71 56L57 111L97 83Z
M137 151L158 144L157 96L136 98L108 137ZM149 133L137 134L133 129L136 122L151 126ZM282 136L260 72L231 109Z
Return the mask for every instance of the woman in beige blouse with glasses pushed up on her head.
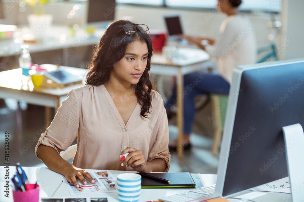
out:
M168 172L168 120L149 75L148 34L147 25L111 23L93 54L87 84L69 92L38 141L36 156L76 187L76 178L94 181L83 169ZM72 165L59 153L76 137Z

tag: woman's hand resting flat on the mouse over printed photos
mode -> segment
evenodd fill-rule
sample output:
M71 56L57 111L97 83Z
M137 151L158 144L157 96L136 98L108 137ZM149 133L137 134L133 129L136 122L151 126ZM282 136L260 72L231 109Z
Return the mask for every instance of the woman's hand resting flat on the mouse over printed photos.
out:
M79 184L77 183L77 178L79 178L79 180L84 185L88 184L86 179L88 179L92 183L96 182L96 180L94 180L93 177L88 172L86 172L84 169L75 166L67 168L64 171L64 176L69 183L73 184L77 188L79 188Z

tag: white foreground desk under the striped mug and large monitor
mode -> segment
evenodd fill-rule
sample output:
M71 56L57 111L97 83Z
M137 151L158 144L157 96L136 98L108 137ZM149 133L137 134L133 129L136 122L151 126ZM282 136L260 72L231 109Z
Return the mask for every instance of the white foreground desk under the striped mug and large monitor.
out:
M101 194L85 194L85 195L71 195L67 188L62 184L62 180L60 178L60 174L50 171L48 168L44 167L23 167L23 170L26 172L27 177L29 179L29 183L35 183L36 180L38 180L38 183L40 184L40 197L57 197L57 198L89 198L89 197L107 197L109 202L116 202L118 201L117 193L101 193ZM86 171L91 171L89 169L86 169ZM0 195L0 201L2 202L12 202L12 190L10 188L9 198L4 196L3 187L5 185L5 167L0 166L0 187L1 187L1 195ZM114 175L114 177L117 177L118 174L122 172L128 172L128 171L111 171L111 173ZM130 172L130 171L129 171ZM16 173L16 167L15 166L9 166L9 178ZM204 180L206 186L211 186L212 184L215 184L216 182L216 175L213 174L201 174L202 179ZM140 200L139 201L151 201L151 200L157 200L160 197L164 197L167 194L170 194L174 192L175 190L172 189L142 189L140 193ZM252 200L257 202L280 202L280 201L290 201L290 200L283 200L285 198L288 198L288 194L284 193L269 193L261 197L254 198ZM240 201L240 200L239 200Z

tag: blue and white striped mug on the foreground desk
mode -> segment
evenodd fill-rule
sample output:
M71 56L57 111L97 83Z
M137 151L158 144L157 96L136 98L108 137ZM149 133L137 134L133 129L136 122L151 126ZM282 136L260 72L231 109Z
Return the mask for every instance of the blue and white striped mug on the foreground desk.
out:
M136 173L122 173L117 176L116 190L121 202L138 202L141 189L141 176Z

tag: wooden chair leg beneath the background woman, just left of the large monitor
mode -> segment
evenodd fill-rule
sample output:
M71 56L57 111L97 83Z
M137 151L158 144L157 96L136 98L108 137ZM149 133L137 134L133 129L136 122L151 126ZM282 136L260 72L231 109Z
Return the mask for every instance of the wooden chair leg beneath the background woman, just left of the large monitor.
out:
M219 153L219 146L222 140L222 123L221 123L221 114L220 112L216 113L216 107L219 106L219 97L217 95L212 95L212 112L216 115L212 121L213 125L213 143L211 147L211 154L216 155Z

